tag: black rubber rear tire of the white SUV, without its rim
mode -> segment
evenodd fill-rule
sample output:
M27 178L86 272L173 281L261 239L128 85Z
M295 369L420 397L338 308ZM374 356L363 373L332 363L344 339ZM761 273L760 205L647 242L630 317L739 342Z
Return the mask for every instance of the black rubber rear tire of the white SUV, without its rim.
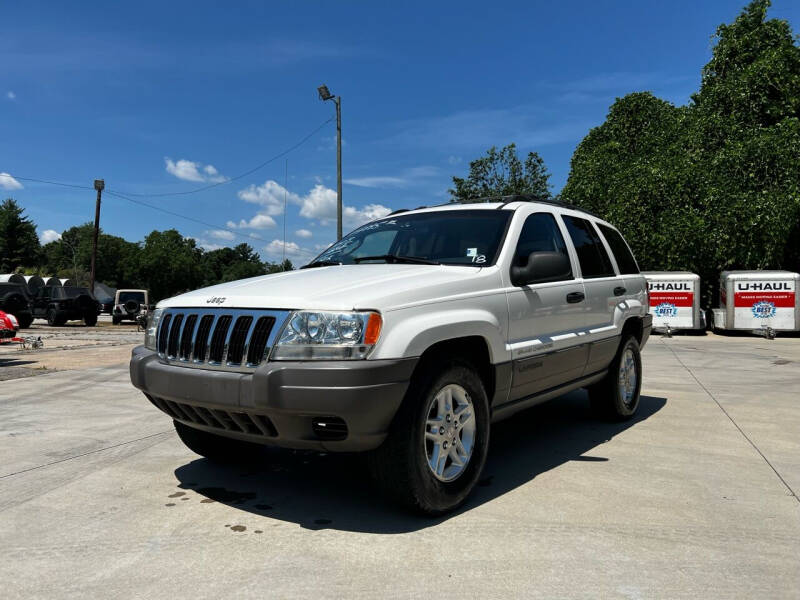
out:
M629 358L633 360L632 366L636 374L636 382L633 385L632 396L630 399L626 399L620 389L619 380L623 361ZM625 421L636 414L641 390L642 355L639 351L639 342L634 336L626 335L622 338L617 354L608 367L608 375L589 387L589 401L597 416L612 421Z

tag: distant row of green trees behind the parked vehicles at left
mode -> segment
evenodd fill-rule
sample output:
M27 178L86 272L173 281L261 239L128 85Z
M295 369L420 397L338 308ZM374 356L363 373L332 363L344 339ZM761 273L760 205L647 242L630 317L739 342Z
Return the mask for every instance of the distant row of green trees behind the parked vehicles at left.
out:
M88 285L94 225L70 227L61 239L39 243L36 224L13 199L0 204L0 272L77 279ZM149 289L154 300L225 281L290 271L263 262L249 244L204 250L177 230L152 231L142 242L100 232L96 280L112 288Z

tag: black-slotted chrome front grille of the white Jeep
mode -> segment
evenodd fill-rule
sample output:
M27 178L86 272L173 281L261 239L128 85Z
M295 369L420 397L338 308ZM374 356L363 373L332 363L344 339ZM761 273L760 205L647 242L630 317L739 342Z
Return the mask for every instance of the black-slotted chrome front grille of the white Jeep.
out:
M158 354L170 364L248 372L266 360L289 311L170 308L158 330Z

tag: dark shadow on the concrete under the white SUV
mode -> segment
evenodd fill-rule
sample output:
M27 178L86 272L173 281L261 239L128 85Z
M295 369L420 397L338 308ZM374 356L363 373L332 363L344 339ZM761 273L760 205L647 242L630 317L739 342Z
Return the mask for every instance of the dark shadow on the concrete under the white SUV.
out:
M475 492L455 512L439 517L398 511L376 500L361 454L263 447L234 465L192 460L178 467L175 477L178 488L194 491L202 502L219 502L246 513L241 517L245 525L250 514L311 530L407 533L491 502L567 462L608 461L595 456L598 447L653 417L666 403L666 398L642 395L632 419L604 422L593 416L586 392L577 390L494 424ZM592 456L585 456L590 452Z

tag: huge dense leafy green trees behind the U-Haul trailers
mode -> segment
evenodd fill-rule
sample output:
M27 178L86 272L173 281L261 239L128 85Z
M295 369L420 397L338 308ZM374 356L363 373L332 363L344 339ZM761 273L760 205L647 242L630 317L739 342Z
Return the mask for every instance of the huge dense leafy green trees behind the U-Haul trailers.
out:
M688 106L618 99L562 191L616 224L644 269L700 274L709 304L724 269L800 266L800 48L768 7L717 29Z

